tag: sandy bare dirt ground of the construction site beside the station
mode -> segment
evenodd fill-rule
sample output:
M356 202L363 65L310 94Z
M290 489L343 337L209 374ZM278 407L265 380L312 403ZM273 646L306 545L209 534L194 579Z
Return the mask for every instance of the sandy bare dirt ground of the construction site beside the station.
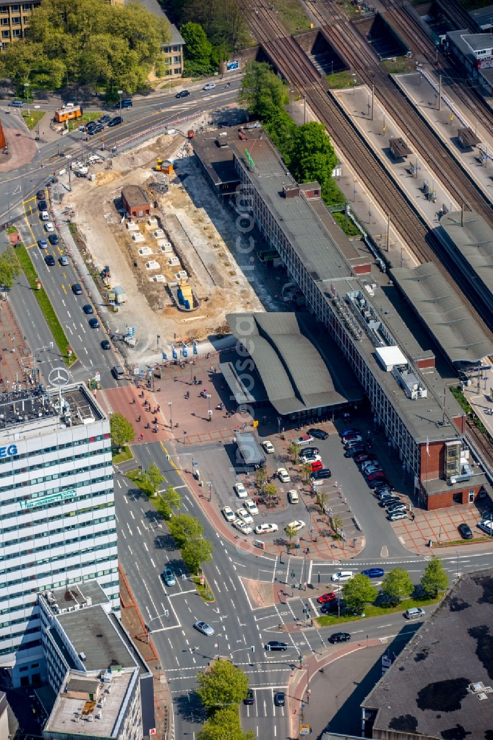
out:
M138 243L121 223L121 188L126 184L147 188L156 179L152 168L158 157L175 158L178 173L170 175L166 194L147 189L151 203L158 203L151 212L159 223L147 226L147 219L141 221L139 230L144 242ZM138 343L131 354L134 361L155 353L157 334L161 336L161 346L180 340L190 342L192 338L204 340L224 329L228 312L262 310L229 250L229 238L224 240L216 228L217 218L213 218L213 223L202 203L207 203L209 210L214 201L215 209L223 212L218 224L223 235L224 219L231 221L231 233L234 221L215 203L193 159L181 135L160 135L133 152L115 156L110 169L104 164L95 166L95 181L80 178L73 182L70 203L75 209L74 221L93 264L97 269L109 265L112 285L122 286L127 293L127 303L115 314L113 328L121 332L124 324L135 327ZM164 229L161 242L152 235L159 227ZM170 252L159 246L165 241L172 243L174 254L178 255L176 266L168 264ZM147 254L139 254L142 247L148 247L151 253L147 249ZM150 260L158 266L146 266ZM183 269L200 302L195 312L178 311L165 287L165 281L174 282L176 273Z

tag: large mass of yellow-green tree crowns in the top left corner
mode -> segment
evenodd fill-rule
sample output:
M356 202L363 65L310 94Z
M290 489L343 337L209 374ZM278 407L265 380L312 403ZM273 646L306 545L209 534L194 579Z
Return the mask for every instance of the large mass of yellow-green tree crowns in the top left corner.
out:
M162 67L161 45L169 40L167 19L138 2L43 0L29 36L0 56L0 75L50 90L68 81L133 93L147 87L152 67Z

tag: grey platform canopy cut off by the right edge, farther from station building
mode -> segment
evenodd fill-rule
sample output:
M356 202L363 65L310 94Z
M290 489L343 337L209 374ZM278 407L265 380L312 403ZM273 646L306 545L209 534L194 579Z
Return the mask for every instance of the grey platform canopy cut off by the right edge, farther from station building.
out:
M461 226L462 220L462 226ZM440 226L483 283L493 293L493 229L474 211L452 211Z

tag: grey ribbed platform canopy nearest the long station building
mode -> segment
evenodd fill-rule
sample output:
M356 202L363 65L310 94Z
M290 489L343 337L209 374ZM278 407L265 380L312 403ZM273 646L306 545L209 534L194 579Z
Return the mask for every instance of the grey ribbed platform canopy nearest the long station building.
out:
M400 290L452 362L475 362L493 352L493 344L467 311L437 266L392 270Z

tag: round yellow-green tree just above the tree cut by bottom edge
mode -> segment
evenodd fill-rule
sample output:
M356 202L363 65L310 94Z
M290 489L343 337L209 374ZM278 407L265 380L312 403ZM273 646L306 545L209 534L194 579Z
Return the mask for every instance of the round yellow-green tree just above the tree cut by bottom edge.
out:
M197 693L204 707L214 711L243 702L248 684L249 679L241 668L229 660L218 660L210 670L198 674Z

